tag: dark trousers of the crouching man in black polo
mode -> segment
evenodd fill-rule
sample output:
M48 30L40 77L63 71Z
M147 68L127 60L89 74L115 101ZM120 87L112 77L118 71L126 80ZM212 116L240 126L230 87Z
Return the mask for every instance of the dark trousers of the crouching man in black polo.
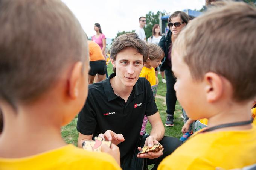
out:
M136 147L133 151L125 155L121 159L121 168L123 170L142 170L143 169L143 158L137 158L137 154L139 150L138 147L143 147L145 144L145 140L149 135L146 137L140 136L140 140L137 142ZM147 159L148 165L155 164L153 170L156 170L160 162L165 158L166 156L170 155L178 146L182 144L180 140L173 137L163 137L161 141L159 141L160 144L163 145L163 155L155 158L155 159Z

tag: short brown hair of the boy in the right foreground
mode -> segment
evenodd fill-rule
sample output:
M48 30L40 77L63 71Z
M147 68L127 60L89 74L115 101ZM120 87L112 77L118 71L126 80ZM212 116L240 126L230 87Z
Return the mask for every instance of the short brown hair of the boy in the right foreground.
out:
M188 65L192 79L207 72L225 77L233 87L233 99L256 96L256 8L244 2L219 1L190 21L176 39L172 55Z

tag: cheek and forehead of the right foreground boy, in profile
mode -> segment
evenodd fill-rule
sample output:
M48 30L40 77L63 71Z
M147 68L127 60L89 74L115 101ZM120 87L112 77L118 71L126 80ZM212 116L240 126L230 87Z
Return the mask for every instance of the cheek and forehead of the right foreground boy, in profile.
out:
M180 105L190 118L194 120L202 118L206 102L203 82L192 80L189 67L177 51L172 56L172 71L177 78L174 90Z

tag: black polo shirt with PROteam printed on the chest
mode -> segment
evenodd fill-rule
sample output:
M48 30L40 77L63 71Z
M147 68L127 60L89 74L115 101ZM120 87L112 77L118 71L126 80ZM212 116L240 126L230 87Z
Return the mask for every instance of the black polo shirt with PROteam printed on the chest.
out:
M114 94L110 84L114 76L115 73L102 82L89 85L86 103L78 115L77 130L84 135L93 134L93 138L108 129L123 134L125 141L118 145L122 158L134 150L144 114L153 115L158 109L148 80L140 77L125 103Z

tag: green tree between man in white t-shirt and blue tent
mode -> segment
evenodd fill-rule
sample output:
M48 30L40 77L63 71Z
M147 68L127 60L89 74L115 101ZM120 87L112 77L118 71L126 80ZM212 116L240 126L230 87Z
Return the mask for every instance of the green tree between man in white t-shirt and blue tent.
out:
M149 11L148 14L146 14L146 26L144 28L146 38L149 38L150 36L152 36L152 29L154 24L159 24L159 14L160 14L160 11L157 11L156 14L154 14L154 12L152 11ZM167 15L167 12L163 11L162 16L163 15Z

